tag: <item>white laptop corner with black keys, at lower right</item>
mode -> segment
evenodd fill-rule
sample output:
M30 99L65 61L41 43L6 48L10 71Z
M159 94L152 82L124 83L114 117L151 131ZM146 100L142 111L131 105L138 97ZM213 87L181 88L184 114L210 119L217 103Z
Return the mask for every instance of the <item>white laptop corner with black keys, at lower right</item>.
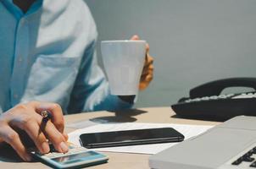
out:
M152 155L155 169L256 169L256 117L239 116Z

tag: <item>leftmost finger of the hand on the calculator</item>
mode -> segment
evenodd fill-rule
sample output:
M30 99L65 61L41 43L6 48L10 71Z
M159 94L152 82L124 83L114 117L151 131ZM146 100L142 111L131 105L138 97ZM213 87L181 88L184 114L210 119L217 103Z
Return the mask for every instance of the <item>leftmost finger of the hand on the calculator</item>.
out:
M22 144L19 138L19 134L17 134L13 128L1 126L0 137L6 143L10 144L24 161L31 161L31 155L27 153L24 144Z

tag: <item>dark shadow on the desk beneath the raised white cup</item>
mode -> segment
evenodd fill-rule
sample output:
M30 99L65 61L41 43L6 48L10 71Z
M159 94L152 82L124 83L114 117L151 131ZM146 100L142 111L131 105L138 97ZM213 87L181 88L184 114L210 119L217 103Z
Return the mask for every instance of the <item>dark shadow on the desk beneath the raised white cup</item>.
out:
M139 109L127 109L122 111L115 111L114 116L106 117L95 117L90 119L94 123L130 123L136 122L136 117L139 114L146 113L147 111L142 111Z

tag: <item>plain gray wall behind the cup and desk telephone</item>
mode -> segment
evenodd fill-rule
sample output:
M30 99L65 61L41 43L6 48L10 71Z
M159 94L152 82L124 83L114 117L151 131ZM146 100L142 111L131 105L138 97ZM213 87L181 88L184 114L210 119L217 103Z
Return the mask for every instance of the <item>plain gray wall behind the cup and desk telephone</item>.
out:
M140 35L154 79L137 107L170 106L214 79L255 77L255 0L86 0L98 42ZM99 62L101 54L97 48Z

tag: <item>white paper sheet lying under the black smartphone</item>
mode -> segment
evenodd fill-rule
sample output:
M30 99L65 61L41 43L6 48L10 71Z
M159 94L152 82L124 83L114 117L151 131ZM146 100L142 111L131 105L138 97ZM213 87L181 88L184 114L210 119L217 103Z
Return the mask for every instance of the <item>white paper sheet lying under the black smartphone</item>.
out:
M96 132L109 132L142 128L175 128L181 134L185 136L185 139L189 139L198 134L202 134L213 126L202 125L186 125L186 124L168 124L168 123L109 123L109 124L97 124L88 128L77 129L69 134L69 141L73 144L81 145L79 142L79 136L81 134L96 133ZM141 154L156 154L162 150L169 148L178 143L164 143L164 144L142 144L132 146L120 146L109 148L97 148L93 150L100 151L112 151L112 152L126 152L126 153L141 153Z

